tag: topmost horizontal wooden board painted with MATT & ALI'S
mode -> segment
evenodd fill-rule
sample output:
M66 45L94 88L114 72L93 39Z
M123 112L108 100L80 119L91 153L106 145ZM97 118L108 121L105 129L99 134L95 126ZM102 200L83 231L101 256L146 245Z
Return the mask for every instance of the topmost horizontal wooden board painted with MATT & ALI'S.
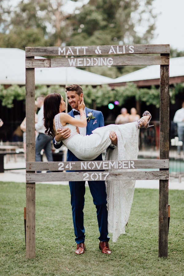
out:
M26 47L25 56L90 56L120 54L169 54L169 44Z

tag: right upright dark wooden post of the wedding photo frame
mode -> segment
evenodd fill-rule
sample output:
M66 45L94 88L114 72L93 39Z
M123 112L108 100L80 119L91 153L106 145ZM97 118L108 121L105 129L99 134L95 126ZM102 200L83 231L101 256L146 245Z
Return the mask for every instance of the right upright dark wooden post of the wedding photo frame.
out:
M169 65L160 65L160 159L169 159ZM159 181L159 257L168 255L168 185Z

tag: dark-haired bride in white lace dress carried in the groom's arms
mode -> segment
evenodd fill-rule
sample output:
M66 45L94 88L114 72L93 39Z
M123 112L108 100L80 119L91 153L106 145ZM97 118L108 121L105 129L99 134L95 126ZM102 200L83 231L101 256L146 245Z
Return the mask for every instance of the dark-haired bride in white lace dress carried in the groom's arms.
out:
M55 136L58 128L70 128L71 135L62 143L80 160L94 160L111 144L111 131L116 132L118 144L113 150L106 150L105 160L136 160L138 155L138 129L148 128L151 114L148 111L136 122L125 125L107 125L96 128L91 135L81 136L78 127L86 127L85 104L78 101L80 120L64 113L66 109L63 97L59 93L52 93L44 99L45 133ZM112 137L112 136L111 136ZM116 170L111 170L116 171ZM106 181L108 231L113 233L113 241L117 241L120 234L125 233L133 200L135 180Z

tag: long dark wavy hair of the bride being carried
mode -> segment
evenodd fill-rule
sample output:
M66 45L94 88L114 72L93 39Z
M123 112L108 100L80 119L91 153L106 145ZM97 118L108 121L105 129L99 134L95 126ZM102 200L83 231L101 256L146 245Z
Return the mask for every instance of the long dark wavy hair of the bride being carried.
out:
M48 94L44 99L44 127L45 133L54 136L53 120L59 113L61 95L59 93Z

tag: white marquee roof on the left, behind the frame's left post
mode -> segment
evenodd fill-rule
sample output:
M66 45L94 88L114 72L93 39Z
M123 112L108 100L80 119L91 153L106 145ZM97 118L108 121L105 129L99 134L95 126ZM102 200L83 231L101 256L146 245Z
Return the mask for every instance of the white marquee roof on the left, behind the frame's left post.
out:
M75 67L36 68L38 85L101 85L113 79ZM25 51L17 48L0 48L0 84L25 85Z

